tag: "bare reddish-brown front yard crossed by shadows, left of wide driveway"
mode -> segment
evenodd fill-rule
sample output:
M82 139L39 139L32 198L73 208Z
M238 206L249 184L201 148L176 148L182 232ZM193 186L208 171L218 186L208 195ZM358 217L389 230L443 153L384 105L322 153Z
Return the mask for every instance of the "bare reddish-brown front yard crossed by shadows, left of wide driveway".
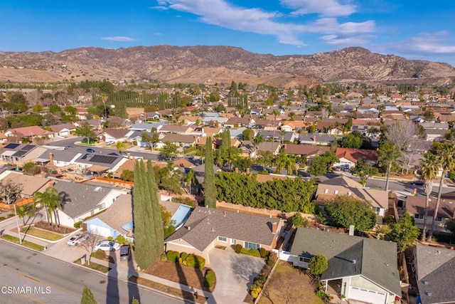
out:
M209 268L206 267L203 269L196 269L179 263L158 261L145 272L152 276L166 278L166 280L169 281L212 292L214 288L206 288L203 286L205 271L208 269Z

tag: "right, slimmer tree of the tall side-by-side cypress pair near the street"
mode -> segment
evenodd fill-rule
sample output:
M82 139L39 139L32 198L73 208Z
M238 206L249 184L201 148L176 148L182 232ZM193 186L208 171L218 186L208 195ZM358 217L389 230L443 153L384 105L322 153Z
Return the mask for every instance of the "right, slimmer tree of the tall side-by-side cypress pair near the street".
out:
M163 219L161 219L161 208L158 200L158 186L155 181L154 168L151 159L147 162L147 181L149 182L149 196L151 206L151 216L154 221L154 256L158 258L164 251L164 229ZM156 260L155 260L156 261Z

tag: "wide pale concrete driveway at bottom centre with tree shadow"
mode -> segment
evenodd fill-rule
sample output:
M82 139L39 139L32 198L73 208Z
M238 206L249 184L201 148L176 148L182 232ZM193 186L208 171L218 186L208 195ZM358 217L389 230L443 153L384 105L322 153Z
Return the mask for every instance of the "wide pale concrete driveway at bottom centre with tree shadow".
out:
M243 303L253 278L264 267L264 259L235 253L230 247L210 251L210 267L216 274L216 286L207 303Z

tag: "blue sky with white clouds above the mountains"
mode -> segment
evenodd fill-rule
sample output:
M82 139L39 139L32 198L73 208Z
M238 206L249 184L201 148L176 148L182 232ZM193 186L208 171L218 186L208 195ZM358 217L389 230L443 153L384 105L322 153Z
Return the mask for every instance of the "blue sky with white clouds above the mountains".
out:
M0 51L237 46L274 55L363 46L455 65L453 0L2 0Z

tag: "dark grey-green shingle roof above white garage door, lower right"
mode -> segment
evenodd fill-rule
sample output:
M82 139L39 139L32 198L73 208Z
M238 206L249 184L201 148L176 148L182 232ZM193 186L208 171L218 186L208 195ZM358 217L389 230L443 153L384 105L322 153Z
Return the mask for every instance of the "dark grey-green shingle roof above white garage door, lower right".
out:
M328 269L322 274L321 280L362 275L401 296L397 244L394 242L299 228L291 254L307 257L316 254L326 256Z

